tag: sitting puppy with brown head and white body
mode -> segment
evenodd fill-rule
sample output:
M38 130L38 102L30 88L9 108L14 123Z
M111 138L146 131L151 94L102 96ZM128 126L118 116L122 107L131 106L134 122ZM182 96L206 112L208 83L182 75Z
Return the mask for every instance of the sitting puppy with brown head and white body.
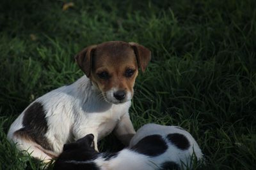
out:
M95 150L113 130L128 145L135 133L128 112L134 82L138 68L144 72L150 59L150 50L137 43L88 46L76 55L85 75L29 104L11 125L8 139L45 162L86 134L93 134Z

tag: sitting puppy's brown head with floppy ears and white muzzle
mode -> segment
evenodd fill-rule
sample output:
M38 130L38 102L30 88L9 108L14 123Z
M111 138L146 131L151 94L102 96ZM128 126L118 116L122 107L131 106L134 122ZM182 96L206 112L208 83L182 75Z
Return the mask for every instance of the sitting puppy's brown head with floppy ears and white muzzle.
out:
M109 41L91 45L76 55L79 67L109 103L132 99L138 68L145 71L151 52L137 43Z

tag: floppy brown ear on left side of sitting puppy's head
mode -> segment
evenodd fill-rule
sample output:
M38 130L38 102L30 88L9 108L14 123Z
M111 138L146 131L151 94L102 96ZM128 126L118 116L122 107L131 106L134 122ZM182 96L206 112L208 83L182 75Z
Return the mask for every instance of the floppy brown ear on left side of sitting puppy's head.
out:
M78 66L88 78L92 70L92 57L96 47L97 45L90 45L75 56Z

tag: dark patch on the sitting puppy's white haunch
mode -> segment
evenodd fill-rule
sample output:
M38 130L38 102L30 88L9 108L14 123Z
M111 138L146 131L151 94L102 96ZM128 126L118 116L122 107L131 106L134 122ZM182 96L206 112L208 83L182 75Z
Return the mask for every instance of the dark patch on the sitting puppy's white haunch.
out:
M15 132L15 135L28 138L35 141L46 150L52 150L45 134L48 130L47 121L45 119L44 106L35 102L25 111L21 129Z

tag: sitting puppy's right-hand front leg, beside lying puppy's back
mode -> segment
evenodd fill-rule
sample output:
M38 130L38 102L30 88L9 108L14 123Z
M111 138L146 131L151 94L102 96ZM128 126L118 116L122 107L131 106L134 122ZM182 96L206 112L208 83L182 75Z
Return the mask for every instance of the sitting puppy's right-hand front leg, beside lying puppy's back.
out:
M129 113L126 113L123 117L121 117L120 121L115 127L115 135L116 137L124 143L124 145L129 145L131 138L136 133L134 131L134 127L132 125L131 119L129 117Z

